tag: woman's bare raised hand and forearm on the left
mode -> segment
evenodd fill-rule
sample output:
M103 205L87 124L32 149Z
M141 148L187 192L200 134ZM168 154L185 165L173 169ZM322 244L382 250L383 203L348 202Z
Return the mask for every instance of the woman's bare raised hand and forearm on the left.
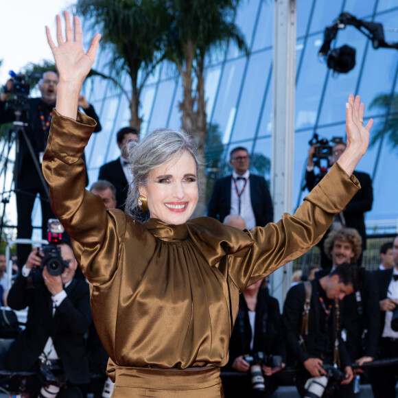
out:
M73 29L69 12L65 11L64 16L65 38L62 35L60 16L57 15L56 17L58 46L52 40L48 26L46 26L46 33L49 46L54 54L56 68L60 75L56 110L60 115L76 120L80 90L95 60L101 35L96 34L91 40L89 51L84 52L80 18L78 16L74 17Z

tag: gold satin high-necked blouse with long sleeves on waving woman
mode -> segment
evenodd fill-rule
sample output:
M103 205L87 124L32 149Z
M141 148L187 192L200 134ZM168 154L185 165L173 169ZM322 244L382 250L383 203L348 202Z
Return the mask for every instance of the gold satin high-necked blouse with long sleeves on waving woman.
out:
M294 215L239 231L212 218L144 224L84 189L81 159L95 126L54 110L43 161L51 207L91 285L95 327L119 366L223 366L239 292L316 244L358 191L338 165Z

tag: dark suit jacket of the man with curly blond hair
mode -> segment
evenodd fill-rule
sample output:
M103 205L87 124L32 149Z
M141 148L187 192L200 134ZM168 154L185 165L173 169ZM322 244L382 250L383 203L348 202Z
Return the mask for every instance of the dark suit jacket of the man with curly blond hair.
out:
M340 306L340 329L347 331L346 347L352 362L363 355L375 358L379 343L380 307L377 281L371 272L364 268L360 268L360 270L362 278L361 303L357 303L355 294L349 294L342 299ZM331 268L325 268L316 272L316 277L325 277L330 272ZM362 334L365 330L367 332L364 340Z

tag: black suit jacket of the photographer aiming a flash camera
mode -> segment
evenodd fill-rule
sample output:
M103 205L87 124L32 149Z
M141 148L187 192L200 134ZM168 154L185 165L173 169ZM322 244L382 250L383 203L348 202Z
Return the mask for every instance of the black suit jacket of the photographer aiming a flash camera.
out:
M56 307L54 316L51 293L40 275L35 288L27 288L27 278L20 275L8 295L12 309L29 306L25 330L16 337L7 355L10 371L34 371L36 362L51 336L65 373L72 384L90 381L89 360L84 347L84 333L91 323L89 285L72 279L65 289L67 297Z

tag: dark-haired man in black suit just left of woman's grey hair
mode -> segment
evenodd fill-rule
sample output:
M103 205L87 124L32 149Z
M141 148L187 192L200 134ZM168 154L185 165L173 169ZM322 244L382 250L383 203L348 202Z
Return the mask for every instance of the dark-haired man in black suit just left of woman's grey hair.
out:
M139 132L134 127L121 128L116 134L117 146L121 151L121 156L115 161L104 164L100 168L100 174L98 174L98 180L106 180L116 188L116 202L117 209L124 210L128 186L132 181L132 174L130 171L130 165L128 159L123 156L124 145L128 141L138 141Z

